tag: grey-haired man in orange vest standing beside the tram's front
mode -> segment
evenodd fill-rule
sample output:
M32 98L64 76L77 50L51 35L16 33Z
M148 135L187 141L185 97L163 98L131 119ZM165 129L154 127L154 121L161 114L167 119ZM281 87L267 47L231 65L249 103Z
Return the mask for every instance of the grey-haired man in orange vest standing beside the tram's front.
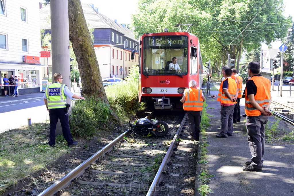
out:
M199 141L201 111L203 109L203 101L205 97L202 90L196 88L195 80L189 82L189 88L185 89L181 102L183 109L187 111L189 119L189 132L191 140Z

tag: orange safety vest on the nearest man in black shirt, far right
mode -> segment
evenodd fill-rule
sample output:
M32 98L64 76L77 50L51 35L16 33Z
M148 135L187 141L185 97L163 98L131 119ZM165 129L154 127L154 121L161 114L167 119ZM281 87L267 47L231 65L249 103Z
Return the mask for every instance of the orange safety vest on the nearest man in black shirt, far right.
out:
M256 95L254 96L254 100L260 107L266 107L270 103L270 80L264 78L263 76L255 76L250 78L249 80L253 80L254 84L257 87ZM259 116L261 112L253 107L250 103L250 100L247 96L247 88L245 89L245 114L247 116Z

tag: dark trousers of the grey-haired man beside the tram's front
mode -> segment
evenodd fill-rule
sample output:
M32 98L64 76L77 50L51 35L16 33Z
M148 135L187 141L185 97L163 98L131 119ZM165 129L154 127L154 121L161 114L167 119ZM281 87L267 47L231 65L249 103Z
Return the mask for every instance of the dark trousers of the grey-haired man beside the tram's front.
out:
M190 136L195 140L199 140L200 123L201 123L201 111L187 111L189 119L189 131Z

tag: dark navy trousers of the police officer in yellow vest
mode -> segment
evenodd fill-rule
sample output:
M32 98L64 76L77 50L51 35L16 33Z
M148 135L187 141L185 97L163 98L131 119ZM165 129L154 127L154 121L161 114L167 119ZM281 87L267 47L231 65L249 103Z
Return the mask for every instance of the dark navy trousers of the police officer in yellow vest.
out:
M74 140L71 137L71 131L69 129L69 117L65 112L64 108L56 108L49 110L49 119L50 119L50 133L49 133L49 145L55 145L55 130L58 119L62 127L62 133L64 139L67 141L67 145L72 145Z

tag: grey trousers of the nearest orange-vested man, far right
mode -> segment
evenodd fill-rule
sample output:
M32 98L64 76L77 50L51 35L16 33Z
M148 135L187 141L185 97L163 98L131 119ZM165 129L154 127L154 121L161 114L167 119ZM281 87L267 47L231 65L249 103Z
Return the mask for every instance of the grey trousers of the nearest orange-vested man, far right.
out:
M264 155L265 124L268 117L264 115L247 116L246 127L248 133L248 144L252 155L252 165L256 169L262 169Z

